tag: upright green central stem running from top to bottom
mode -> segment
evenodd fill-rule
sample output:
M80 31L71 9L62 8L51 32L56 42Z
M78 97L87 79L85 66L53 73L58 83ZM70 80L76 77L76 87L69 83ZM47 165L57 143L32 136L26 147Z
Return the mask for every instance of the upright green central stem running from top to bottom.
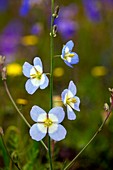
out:
M54 52L54 44L53 44L53 22L54 22L54 0L51 0L51 30L50 30L50 109L53 107L53 52ZM50 170L52 167L52 156L51 156L51 139L48 137L48 153L49 153L49 164Z

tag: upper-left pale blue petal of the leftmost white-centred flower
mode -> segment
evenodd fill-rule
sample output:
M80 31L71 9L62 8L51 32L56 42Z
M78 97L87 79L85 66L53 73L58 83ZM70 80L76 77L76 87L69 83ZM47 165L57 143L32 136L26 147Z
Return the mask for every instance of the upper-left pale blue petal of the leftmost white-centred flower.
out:
M26 77L30 77L30 70L33 66L31 64L29 64L28 62L25 62L24 65L23 65L23 74L26 76Z

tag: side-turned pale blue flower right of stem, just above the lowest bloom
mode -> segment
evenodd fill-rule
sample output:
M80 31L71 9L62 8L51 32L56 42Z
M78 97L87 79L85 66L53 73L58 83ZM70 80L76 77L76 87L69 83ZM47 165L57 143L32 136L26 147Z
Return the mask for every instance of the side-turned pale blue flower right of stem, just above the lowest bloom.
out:
M80 99L79 97L75 96L77 93L77 89L73 81L70 81L68 89L65 89L62 94L62 101L65 106L67 106L67 115L68 119L74 120L76 119L76 115L73 111L77 110L80 111L79 109L79 104L80 104Z

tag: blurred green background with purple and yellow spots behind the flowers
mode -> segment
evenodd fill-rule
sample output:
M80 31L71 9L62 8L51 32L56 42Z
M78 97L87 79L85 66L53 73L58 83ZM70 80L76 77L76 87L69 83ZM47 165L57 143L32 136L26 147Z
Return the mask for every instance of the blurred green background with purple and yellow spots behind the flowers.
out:
M50 72L50 9L49 0L0 0L0 55L6 56L7 84L20 111L32 125L29 112L33 105L49 111L49 87L29 95L25 91L26 77L22 75L25 61L32 64L39 56L44 72ZM61 92L73 80L80 97L77 119L65 118L66 139L55 143L54 169L60 170L72 160L95 133L103 119L104 103L109 103L109 87L113 87L113 1L70 0L55 1L59 17L55 20L57 36L54 55L61 55L63 44L73 40L80 62L73 69L60 58L54 59L54 105ZM48 157L40 142L29 136L23 122L9 100L0 80L0 126L8 150L23 170L48 169ZM21 100L20 100L21 99ZM65 108L64 108L65 109ZM47 143L47 138L44 139ZM38 168L37 168L38 167ZM113 116L102 132L76 160L71 170L112 170ZM0 140L0 170L15 170Z

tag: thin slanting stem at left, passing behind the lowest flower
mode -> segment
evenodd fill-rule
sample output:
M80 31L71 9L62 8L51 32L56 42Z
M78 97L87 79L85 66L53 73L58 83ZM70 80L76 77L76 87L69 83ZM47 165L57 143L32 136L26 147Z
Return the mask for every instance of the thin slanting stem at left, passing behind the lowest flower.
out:
M20 112L20 110L18 109L15 101L13 100L13 98L12 98L12 96L11 96L11 93L10 93L10 91L9 91L9 89L8 89L6 80L3 80L3 83L4 83L5 90L6 90L6 92L7 92L7 95L9 96L9 98L10 98L13 106L15 107L15 109L17 110L17 112L19 113L19 115L21 116L21 118L23 119L23 121L27 124L27 126L28 126L29 128L31 128L31 125L28 123L28 121L27 121L26 118L23 116L23 114ZM47 146L45 145L45 143L44 143L42 140L41 140L40 142L41 142L42 145L45 147L45 149L48 151L48 148L47 148Z

